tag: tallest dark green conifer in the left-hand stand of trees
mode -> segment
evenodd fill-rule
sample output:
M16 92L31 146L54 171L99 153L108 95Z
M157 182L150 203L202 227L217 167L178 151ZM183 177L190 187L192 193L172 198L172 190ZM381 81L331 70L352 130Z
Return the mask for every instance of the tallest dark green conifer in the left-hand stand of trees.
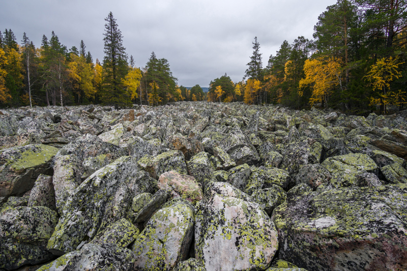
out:
M112 12L105 18L105 37L103 58L103 103L119 106L131 105L130 96L123 86L122 79L128 71L126 48L123 36Z

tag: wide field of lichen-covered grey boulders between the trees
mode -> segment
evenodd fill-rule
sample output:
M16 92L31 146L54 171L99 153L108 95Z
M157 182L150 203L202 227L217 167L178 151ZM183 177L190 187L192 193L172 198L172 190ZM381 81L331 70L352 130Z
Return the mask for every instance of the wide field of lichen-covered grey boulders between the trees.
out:
M0 270L407 269L407 110L0 111Z

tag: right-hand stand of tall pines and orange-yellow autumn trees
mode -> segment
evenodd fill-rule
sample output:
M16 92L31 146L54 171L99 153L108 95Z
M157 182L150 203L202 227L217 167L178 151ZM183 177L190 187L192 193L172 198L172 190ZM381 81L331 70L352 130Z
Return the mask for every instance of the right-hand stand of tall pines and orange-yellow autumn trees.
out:
M405 109L406 9L405 0L338 0L319 15L313 40L284 41L267 65L255 38L244 80L213 80L208 99L359 114Z

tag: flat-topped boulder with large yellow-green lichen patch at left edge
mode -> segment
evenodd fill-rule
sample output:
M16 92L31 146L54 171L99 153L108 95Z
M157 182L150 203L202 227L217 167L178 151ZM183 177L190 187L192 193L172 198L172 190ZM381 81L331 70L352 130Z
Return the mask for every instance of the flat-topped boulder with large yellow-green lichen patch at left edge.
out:
M0 152L0 197L22 195L31 190L40 174L50 172L51 159L58 149L32 144Z

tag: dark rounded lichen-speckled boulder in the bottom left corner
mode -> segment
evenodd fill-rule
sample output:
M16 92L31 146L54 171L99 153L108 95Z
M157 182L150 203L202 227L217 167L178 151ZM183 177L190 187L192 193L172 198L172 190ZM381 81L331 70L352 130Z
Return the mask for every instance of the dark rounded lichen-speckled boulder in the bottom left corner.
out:
M0 268L16 269L54 256L46 244L58 221L55 211L45 207L16 207L0 213Z

